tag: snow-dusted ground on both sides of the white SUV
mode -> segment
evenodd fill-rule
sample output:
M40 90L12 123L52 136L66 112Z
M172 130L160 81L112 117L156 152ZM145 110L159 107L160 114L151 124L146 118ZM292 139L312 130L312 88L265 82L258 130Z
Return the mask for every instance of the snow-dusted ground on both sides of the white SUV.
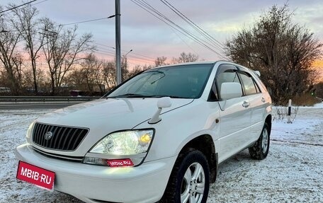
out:
M81 202L16 180L14 148L30 122L49 111L0 110L0 202ZM323 103L300 108L292 124L273 122L265 160L244 150L225 161L208 202L323 202Z

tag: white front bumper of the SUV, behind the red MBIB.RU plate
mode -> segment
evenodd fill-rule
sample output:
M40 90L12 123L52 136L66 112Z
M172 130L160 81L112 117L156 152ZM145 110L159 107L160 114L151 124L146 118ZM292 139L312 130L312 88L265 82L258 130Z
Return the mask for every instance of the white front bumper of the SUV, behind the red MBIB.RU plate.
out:
M55 172L54 190L84 202L157 202L166 188L176 157L110 168L42 156L29 144L16 148L20 161Z

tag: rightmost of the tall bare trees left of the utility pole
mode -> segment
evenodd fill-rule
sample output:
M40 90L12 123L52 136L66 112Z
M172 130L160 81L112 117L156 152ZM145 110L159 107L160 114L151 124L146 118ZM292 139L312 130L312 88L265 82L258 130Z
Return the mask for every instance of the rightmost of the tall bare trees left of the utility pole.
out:
M42 47L47 66L50 70L52 95L60 88L64 76L76 62L82 59L81 54L92 52L95 47L90 45L92 35L87 33L77 37L77 26L63 29L48 18L42 19L45 43Z

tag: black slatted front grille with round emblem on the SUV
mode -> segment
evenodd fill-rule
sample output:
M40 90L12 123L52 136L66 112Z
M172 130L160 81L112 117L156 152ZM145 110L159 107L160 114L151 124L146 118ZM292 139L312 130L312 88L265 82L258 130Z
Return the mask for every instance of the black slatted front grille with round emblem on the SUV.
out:
M33 142L47 149L74 151L89 129L35 123Z

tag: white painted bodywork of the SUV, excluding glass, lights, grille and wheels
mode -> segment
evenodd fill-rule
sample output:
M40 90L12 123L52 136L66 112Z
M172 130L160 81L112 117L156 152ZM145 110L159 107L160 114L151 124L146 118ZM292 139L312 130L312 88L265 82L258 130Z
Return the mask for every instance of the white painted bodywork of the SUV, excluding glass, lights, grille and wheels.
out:
M211 64L192 64L205 63ZM254 144L265 120L271 115L271 98L262 86L259 86L262 93L228 100L209 100L217 67L233 63L212 64L214 67L200 98L171 98L171 106L162 108L159 115L162 120L157 123L149 124L149 120L158 110L159 98L102 98L56 110L35 120L44 124L89 129L76 150L46 149L27 138L27 144L16 148L16 157L55 172L55 190L84 202L157 202L164 194L176 158L186 144L200 136L212 137L216 163L222 163ZM254 76L251 71L250 74ZM259 79L255 80L259 82ZM130 129L154 129L147 156L136 167L111 168L62 161L35 151L84 157L106 135Z

